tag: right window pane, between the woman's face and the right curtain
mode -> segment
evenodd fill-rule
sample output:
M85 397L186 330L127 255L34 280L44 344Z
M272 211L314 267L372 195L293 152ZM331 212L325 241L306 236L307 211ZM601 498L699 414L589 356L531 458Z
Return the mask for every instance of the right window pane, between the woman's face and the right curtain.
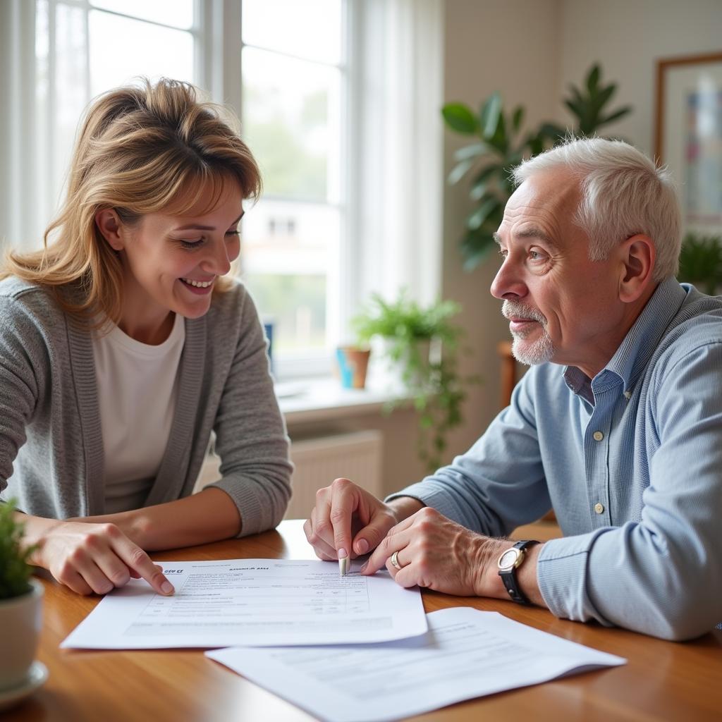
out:
M243 279L274 323L282 369L328 359L338 337L342 9L342 0L243 2L243 133L264 178L243 219Z

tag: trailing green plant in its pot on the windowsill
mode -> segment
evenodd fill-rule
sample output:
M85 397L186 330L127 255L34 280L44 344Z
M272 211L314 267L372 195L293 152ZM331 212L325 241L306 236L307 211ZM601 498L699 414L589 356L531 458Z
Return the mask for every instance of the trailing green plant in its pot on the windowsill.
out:
M404 392L386 406L392 411L409 396L419 419L419 458L430 471L443 461L446 435L461 424L465 386L476 377L458 372L461 328L451 321L458 303L439 301L427 308L401 292L395 302L371 297L365 310L352 321L360 345L383 339L380 355L398 370Z

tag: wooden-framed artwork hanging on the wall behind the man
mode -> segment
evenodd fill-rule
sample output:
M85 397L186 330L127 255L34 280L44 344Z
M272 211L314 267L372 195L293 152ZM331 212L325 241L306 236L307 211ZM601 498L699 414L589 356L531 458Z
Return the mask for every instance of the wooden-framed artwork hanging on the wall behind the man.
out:
M657 62L655 155L677 181L684 230L722 235L722 52Z

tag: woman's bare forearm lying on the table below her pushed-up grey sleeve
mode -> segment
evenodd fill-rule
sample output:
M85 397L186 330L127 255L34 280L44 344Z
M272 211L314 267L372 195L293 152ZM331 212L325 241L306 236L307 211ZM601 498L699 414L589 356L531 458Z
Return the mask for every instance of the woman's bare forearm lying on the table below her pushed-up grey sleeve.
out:
M226 492L212 487L177 501L77 519L116 524L146 551L193 547L240 534L238 508Z

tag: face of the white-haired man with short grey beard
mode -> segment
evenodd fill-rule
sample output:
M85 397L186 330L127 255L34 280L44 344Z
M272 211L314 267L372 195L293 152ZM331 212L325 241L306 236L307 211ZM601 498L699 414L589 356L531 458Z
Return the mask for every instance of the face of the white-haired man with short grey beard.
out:
M619 261L590 261L573 222L580 190L564 170L529 178L513 193L497 232L503 264L492 295L504 301L513 352L527 364L580 367L590 378L619 345Z

